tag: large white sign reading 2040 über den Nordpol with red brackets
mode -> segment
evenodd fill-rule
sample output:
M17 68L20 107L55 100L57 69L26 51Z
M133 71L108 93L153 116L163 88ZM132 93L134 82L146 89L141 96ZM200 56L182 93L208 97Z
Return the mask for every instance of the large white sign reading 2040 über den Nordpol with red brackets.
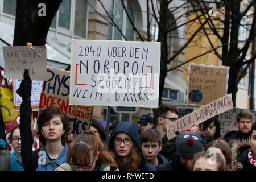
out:
M72 105L158 107L159 42L72 40Z

